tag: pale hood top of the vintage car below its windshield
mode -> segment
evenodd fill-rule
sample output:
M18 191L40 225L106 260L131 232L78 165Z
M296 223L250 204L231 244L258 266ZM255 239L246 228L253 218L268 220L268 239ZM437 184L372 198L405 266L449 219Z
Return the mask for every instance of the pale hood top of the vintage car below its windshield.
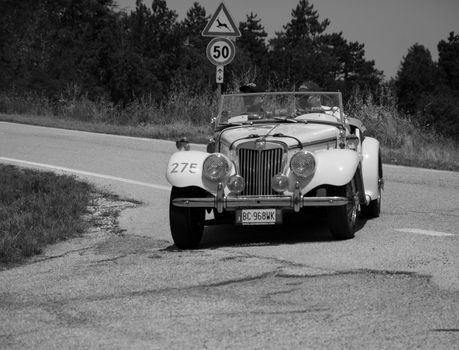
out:
M274 128L274 129L273 129ZM270 131L271 130L271 131ZM266 141L282 141L291 147L298 147L298 141L303 146L336 139L338 129L335 126L323 124L302 123L273 123L251 126L239 126L222 131L220 140L223 144L237 146L250 139L256 139L265 135Z

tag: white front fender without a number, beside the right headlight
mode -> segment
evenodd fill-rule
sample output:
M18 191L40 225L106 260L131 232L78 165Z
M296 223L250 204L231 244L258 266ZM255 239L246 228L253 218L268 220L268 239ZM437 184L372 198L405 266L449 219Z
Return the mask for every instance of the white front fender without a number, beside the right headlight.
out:
M317 152L315 155L316 172L311 182L303 187L303 194L320 185L346 185L354 177L360 163L359 154L348 149Z

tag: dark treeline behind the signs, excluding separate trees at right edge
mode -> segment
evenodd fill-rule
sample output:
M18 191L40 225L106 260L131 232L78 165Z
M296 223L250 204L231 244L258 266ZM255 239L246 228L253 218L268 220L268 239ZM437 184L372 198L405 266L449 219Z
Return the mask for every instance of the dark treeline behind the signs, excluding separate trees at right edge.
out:
M205 57L209 39L201 36L209 16L198 2L180 22L166 0L153 0L151 7L136 0L129 13L117 11L114 0L2 0L2 9L3 91L52 100L78 86L92 101L126 106L145 96L164 103L177 86L193 95L215 90L215 68ZM250 13L239 23L243 36L226 67L227 81L254 76L260 85L291 88L314 79L349 92L367 84L367 75L379 81L363 45L347 43L341 33L324 34L329 23L300 0L291 22L267 45L262 20Z

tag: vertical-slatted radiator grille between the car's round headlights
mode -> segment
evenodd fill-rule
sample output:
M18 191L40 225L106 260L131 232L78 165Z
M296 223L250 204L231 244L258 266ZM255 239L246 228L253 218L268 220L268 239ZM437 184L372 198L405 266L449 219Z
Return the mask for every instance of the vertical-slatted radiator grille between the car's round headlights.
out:
M245 179L242 195L271 195L271 179L282 172L283 148L239 148L239 173Z

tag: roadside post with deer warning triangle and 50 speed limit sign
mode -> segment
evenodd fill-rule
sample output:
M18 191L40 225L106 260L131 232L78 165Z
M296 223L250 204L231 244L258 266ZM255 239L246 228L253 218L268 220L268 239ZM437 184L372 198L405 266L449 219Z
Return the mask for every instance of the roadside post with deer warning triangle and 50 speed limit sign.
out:
M236 54L236 47L228 38L234 39L241 36L241 32L223 2L217 7L201 35L214 37L207 45L206 54L208 60L216 66L215 81L220 98L224 81L223 67L230 64Z

